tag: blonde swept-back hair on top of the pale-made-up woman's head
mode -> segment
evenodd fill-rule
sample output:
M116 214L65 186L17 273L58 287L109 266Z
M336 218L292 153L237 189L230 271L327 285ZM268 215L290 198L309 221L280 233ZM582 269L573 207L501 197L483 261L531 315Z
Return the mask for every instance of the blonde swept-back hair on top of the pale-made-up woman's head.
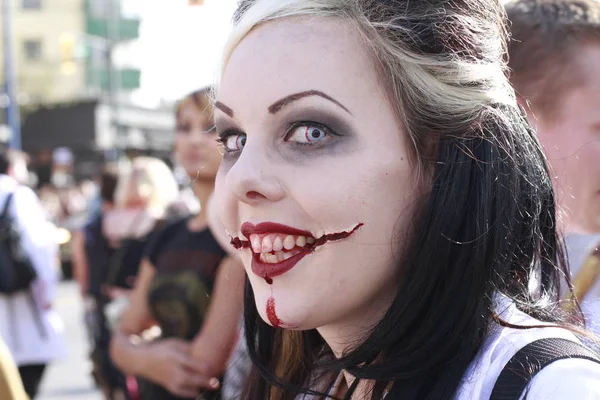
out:
M465 10L461 5L446 5L433 11L434 14L430 5L421 7L411 2L410 8L405 6L406 9L398 11L400 4L393 3L242 1L234 17L236 25L225 46L215 91L218 92L219 81L233 51L254 28L282 18L322 17L350 23L371 51L383 87L414 144L417 161L422 161L422 156L432 150L426 133L464 130L493 105L516 106L506 73L507 33L500 1L488 9L482 5L472 10ZM469 2L464 3L468 7ZM436 26L427 26L422 21L435 22L438 32L435 32ZM431 34L449 34L447 47L423 52L423 46L427 45L423 43L425 29L430 29ZM439 42L439 38L431 41ZM472 48L465 51L470 41L473 41Z

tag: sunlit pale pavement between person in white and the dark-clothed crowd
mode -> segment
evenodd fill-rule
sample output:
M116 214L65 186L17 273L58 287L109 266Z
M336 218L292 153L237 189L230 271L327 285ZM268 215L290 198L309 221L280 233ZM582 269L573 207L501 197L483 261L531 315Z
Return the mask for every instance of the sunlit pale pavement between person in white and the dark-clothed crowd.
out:
M65 324L69 353L49 366L36 400L102 400L90 375L83 303L75 283L61 283L56 307Z

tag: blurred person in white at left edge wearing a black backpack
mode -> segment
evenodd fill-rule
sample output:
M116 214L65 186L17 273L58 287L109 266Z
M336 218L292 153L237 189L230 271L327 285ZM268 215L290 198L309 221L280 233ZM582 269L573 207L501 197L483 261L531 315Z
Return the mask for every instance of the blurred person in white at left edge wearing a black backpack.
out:
M0 154L0 204L18 226L20 244L36 273L29 290L0 294L0 337L19 367L27 394L34 398L46 366L66 352L63 325L52 307L59 265L55 228L39 199L21 184L28 176L23 153Z

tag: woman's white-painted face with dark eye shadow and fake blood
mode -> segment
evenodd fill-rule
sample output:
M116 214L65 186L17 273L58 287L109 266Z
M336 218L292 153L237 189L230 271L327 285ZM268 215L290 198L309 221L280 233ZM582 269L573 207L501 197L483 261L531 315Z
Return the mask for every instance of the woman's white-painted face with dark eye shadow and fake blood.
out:
M396 293L419 191L370 56L340 21L271 22L234 50L216 107L226 153L215 206L242 245L261 317L318 328L342 351ZM286 250L305 254L269 269Z

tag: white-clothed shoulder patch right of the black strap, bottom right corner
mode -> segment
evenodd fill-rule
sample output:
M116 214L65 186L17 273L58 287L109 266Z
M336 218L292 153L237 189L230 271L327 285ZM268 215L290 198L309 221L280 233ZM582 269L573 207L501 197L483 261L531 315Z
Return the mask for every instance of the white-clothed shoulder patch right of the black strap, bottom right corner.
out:
M528 398L600 399L600 364L582 359L556 361L533 378Z

